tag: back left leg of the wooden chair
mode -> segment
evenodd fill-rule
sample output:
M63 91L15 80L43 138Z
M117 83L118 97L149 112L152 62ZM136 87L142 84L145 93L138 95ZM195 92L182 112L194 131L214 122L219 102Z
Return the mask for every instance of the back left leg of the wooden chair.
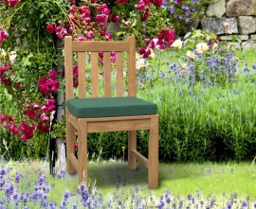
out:
M75 167L69 160L70 154L75 151L75 131L71 123L66 121L66 172L69 174L75 173Z

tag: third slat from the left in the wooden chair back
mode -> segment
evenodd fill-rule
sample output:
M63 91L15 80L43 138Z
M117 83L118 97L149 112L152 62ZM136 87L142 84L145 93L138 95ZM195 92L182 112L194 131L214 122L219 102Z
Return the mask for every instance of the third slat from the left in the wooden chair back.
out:
M111 97L111 60L110 52L104 52L104 97Z

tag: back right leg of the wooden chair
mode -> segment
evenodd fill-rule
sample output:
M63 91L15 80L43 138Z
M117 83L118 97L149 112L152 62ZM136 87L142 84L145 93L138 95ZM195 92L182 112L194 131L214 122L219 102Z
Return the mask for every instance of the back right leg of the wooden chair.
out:
M137 168L137 159L132 156L132 149L137 150L137 131L128 131L128 167Z

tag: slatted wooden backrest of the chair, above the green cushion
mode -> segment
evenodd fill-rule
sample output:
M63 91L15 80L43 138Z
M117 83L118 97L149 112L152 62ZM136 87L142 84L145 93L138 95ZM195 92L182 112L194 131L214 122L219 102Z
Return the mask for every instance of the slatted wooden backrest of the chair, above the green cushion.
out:
M112 96L111 74L116 70L116 96L124 96L124 66L127 66L128 96L137 96L136 76L136 40L128 37L127 41L73 41L72 37L64 38L64 75L65 99L74 97L73 60L77 53L78 62L78 96L86 97L86 84L91 84L91 96L99 97L99 52L103 52L103 89L104 97ZM111 61L111 52L116 52L116 61ZM124 53L127 57L124 58ZM90 62L90 81L86 81L86 58ZM127 58L127 59L126 59ZM127 64L124 63L127 61ZM101 64L101 63L100 63ZM115 66L113 68L113 66Z

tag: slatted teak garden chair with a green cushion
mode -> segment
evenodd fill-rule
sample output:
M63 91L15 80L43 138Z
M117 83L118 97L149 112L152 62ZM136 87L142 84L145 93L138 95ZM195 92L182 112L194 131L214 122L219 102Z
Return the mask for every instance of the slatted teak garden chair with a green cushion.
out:
M103 51L104 97L99 97L99 52ZM116 52L117 97L112 96L111 52ZM73 91L73 55L78 59L78 97ZM127 57L123 58L123 54ZM85 56L89 56L91 96L86 98ZM123 66L127 61L128 96L124 96ZM87 66L87 64L86 64ZM66 169L79 173L79 182L87 183L87 133L128 131L128 166L137 168L137 160L148 167L149 187L158 186L158 115L154 103L137 98L136 40L72 41L64 38L66 100ZM74 154L75 130L78 134L78 158ZM149 130L148 159L137 151L137 130Z

